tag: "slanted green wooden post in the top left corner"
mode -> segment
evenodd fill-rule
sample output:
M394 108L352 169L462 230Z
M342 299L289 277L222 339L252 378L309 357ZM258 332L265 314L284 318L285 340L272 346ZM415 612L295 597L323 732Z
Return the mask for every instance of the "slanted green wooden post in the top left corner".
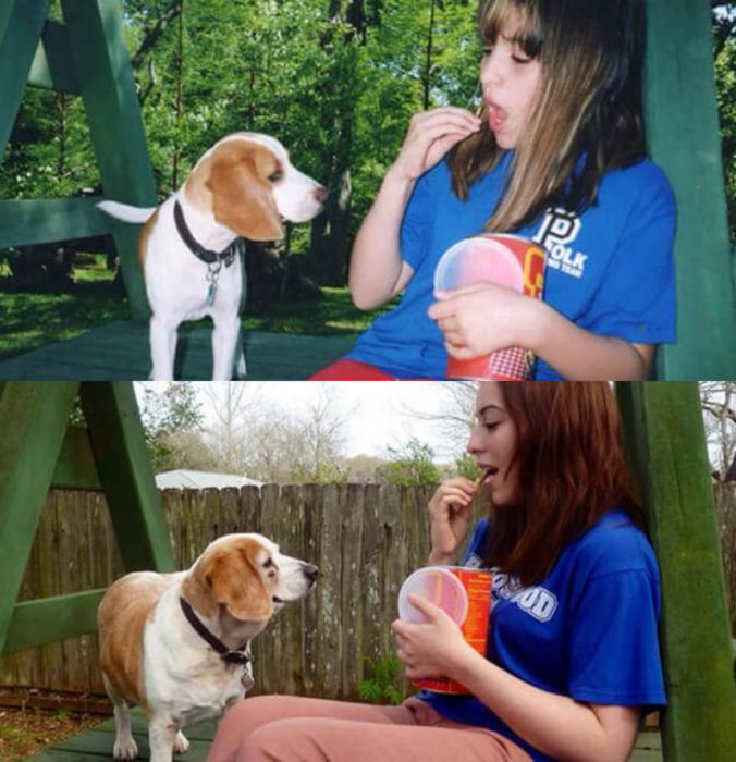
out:
M50 0L5 0L0 10L0 158L13 130Z

